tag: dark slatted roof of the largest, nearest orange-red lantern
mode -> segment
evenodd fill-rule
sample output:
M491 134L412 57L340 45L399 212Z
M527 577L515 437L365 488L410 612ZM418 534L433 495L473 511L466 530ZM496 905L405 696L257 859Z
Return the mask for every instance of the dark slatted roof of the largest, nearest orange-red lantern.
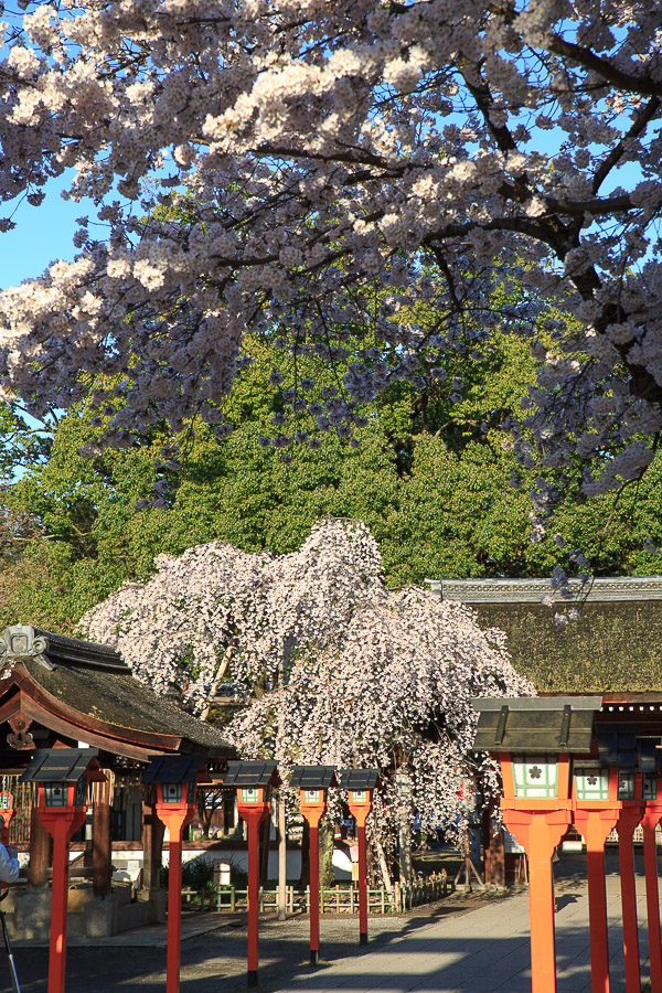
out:
M476 751L589 752L601 696L483 697Z

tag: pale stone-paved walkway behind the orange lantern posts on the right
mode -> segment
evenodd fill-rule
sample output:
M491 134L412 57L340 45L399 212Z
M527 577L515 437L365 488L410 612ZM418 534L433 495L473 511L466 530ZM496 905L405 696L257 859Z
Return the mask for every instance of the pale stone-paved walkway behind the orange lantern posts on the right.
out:
M590 991L585 880L557 884L558 993ZM620 889L607 877L611 990L624 990ZM648 978L643 879L638 878L642 981ZM388 946L344 959L314 975L277 986L291 993L531 993L528 895L435 921Z

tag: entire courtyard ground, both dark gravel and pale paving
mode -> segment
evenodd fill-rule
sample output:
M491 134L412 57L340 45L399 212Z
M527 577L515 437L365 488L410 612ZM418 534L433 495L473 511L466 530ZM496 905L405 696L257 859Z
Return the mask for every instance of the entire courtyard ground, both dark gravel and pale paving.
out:
M641 850L638 868L643 866ZM585 859L562 859L557 867L556 915L558 993L590 990L588 900ZM608 858L611 991L624 990L617 862ZM638 876L642 979L645 960L645 905ZM308 964L308 919L260 921L260 986L281 993L530 993L528 895L476 894L441 901L404 917L371 917L371 943L359 948L356 918L322 917L321 954L329 964ZM477 907L477 909L470 909ZM141 928L111 939L72 942L66 993L162 993L166 987L166 929ZM182 993L244 993L245 917L186 915L182 941ZM46 993L47 949L15 942L22 993ZM0 993L10 993L0 948Z

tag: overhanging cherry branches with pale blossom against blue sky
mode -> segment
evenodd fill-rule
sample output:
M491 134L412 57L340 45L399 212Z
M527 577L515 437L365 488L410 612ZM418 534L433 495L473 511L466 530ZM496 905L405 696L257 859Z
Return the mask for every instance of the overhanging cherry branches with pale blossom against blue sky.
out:
M92 377L116 446L160 417L226 437L243 341L265 330L320 359L330 392L310 418L343 435L386 384L421 382L421 353L434 377L470 349L469 310L508 330L485 303L498 260L579 321L534 341L522 462L580 465L587 494L644 471L662 426L659 4L19 7L0 196L39 204L73 170L70 195L98 215L81 218L75 261L0 300L4 389L33 414ZM421 296L431 331L403 318ZM287 388L306 410L306 385ZM551 495L541 480L534 525Z

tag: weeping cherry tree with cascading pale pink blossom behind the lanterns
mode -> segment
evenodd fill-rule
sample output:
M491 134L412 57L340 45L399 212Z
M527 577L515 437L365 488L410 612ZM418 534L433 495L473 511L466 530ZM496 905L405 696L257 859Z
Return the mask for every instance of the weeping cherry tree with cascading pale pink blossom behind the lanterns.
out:
M418 811L450 826L463 781L496 788L489 764L467 759L472 698L533 687L502 632L426 590L387 589L381 567L355 522L328 520L276 558L211 543L161 556L154 577L121 587L82 627L197 713L214 682L239 683L250 703L225 733L246 758L277 759L286 780L296 764L378 767L373 842L385 869L396 823L410 828Z

